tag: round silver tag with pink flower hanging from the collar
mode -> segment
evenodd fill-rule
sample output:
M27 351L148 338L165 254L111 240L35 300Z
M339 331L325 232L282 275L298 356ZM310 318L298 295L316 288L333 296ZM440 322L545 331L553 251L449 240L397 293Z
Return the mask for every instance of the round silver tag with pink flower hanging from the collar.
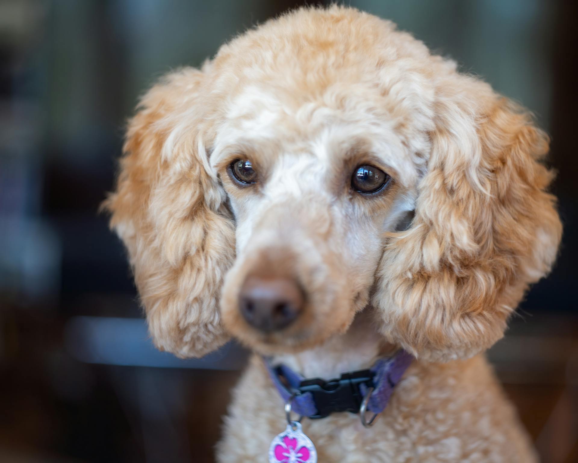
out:
M269 446L269 463L317 463L317 450L301 423L292 421Z

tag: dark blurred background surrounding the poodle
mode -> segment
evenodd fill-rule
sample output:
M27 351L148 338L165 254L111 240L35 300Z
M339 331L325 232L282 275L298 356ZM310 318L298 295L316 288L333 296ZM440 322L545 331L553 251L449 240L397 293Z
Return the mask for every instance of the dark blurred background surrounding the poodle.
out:
M155 351L97 209L151 83L305 3L0 0L0 461L213 461L246 354ZM489 356L543 461L578 461L578 3L349 3L453 57L551 135L560 259Z

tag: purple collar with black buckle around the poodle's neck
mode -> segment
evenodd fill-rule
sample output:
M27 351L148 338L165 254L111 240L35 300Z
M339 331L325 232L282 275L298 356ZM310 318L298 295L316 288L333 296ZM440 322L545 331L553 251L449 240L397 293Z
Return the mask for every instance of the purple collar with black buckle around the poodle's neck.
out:
M283 400L287 402L293 396L292 410L315 420L339 411L358 413L370 388L373 392L367 409L381 413L412 360L410 354L400 350L393 357L379 359L369 370L343 373L329 381L305 379L286 365L272 366L268 358L265 365Z

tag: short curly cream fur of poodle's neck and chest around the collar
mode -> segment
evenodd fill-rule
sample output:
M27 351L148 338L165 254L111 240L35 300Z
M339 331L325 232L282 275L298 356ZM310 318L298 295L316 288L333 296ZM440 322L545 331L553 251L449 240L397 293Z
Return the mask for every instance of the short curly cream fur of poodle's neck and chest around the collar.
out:
M331 377L367 368L388 346L377 342L367 319L323 347L279 358L306 377ZM533 462L531 444L483 355L466 361L414 361L376 424L336 413L302 421L320 462ZM263 461L286 426L283 400L262 359L254 356L233 393L221 463Z

